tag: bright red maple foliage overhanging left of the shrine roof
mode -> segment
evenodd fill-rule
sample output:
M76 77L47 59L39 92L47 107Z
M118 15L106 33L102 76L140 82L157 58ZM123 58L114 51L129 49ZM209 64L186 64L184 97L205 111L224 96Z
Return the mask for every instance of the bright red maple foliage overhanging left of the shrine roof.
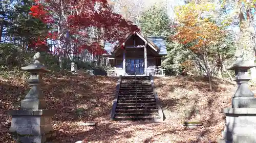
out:
M128 32L139 31L131 21L114 13L105 0L36 0L30 10L30 15L55 29L44 38L54 41L57 53L88 49L102 54L102 41L121 41ZM94 35L88 34L88 28L93 28Z

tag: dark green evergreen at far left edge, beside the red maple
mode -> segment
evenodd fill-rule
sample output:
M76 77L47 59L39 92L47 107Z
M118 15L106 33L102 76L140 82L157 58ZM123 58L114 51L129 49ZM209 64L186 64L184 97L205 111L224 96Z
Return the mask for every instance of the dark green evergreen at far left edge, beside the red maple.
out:
M47 36L47 25L29 14L33 4L33 0L1 1L0 70L26 65L36 50L30 46Z

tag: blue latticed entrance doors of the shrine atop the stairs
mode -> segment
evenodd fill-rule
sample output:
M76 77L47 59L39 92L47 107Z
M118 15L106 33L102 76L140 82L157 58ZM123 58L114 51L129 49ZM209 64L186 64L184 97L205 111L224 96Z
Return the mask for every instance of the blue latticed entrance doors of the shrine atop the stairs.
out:
M126 74L128 75L143 75L144 74L144 59L126 59Z

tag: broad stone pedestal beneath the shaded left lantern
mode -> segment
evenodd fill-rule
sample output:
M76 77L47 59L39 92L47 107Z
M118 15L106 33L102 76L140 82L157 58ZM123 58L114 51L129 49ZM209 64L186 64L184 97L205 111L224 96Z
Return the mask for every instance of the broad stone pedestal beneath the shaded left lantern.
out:
M22 143L46 143L56 133L52 127L53 110L10 110L12 116L9 129Z

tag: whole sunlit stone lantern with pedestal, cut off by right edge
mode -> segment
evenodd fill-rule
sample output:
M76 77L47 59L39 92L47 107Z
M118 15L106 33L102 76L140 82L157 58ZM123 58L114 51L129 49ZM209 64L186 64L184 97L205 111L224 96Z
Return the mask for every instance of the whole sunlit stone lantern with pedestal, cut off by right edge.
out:
M238 57L236 63L229 68L235 71L234 81L237 82L238 89L232 97L232 107L223 109L226 125L219 143L256 142L256 99L248 88L248 69L252 67L256 67L254 62L243 61Z

